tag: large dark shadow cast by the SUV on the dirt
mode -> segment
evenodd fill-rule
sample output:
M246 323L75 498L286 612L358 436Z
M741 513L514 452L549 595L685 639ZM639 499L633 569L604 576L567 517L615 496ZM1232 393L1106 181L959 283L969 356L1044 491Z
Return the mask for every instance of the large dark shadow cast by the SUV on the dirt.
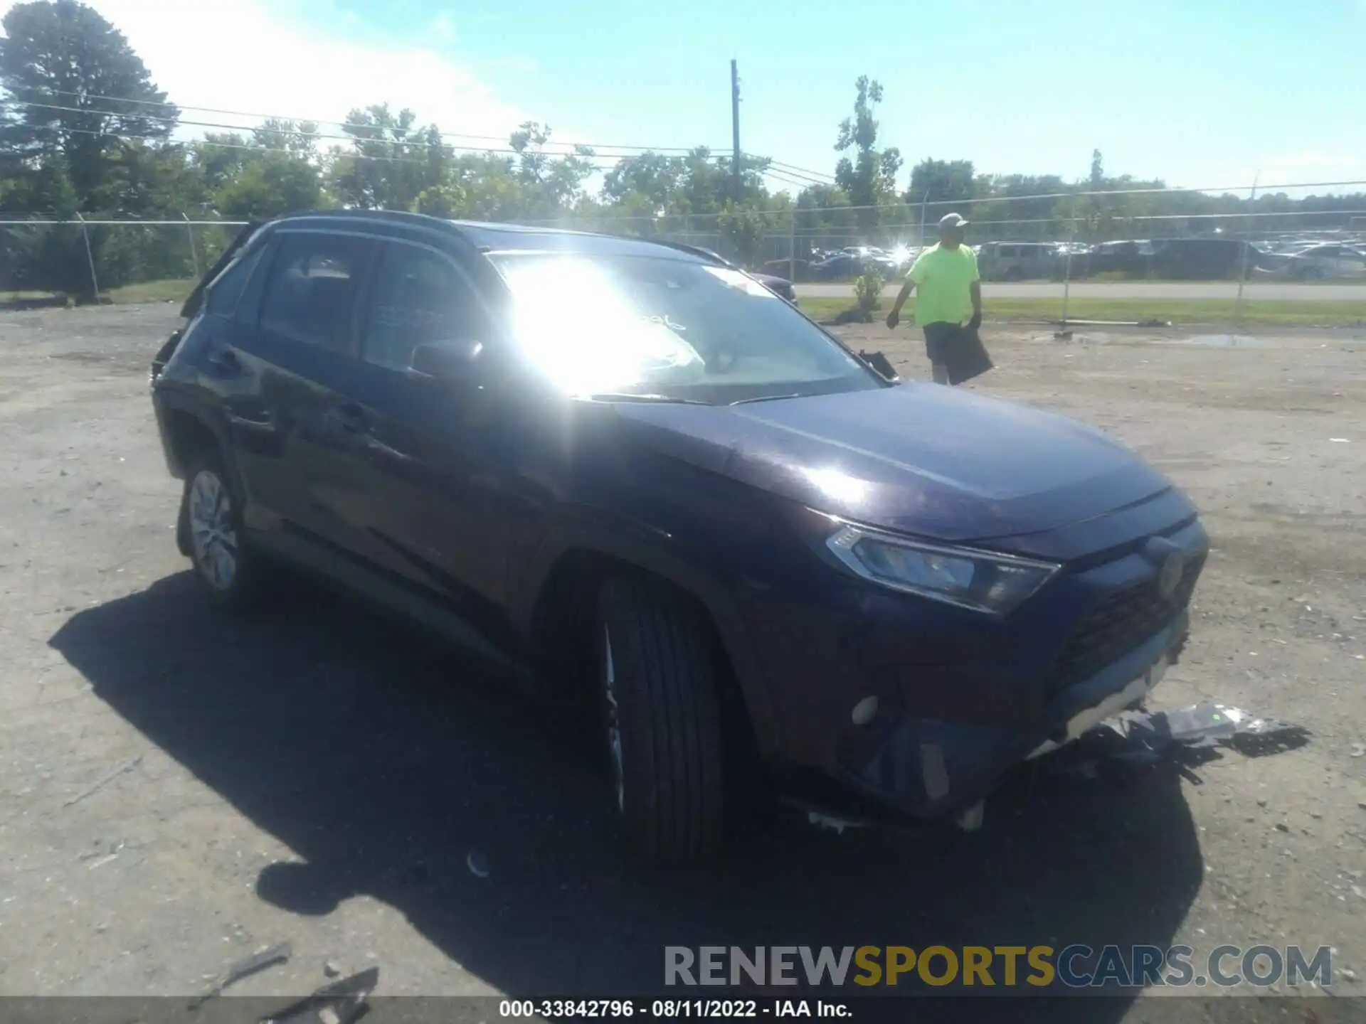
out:
M240 618L182 573L74 614L51 644L298 851L261 872L260 898L299 915L382 900L511 994L657 994L665 945L1165 948L1201 883L1175 770L1041 780L989 806L978 833L779 819L720 862L639 866L582 737L460 651L302 582ZM964 1019L1023 1019L1016 999L955 1002ZM1128 1006L1048 1002L1041 1019L1061 1021Z

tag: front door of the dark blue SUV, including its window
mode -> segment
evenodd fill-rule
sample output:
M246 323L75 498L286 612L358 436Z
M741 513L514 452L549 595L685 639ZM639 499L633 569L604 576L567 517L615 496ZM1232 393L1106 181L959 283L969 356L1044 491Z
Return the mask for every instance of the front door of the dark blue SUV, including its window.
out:
M541 438L485 386L478 360L464 381L414 373L419 345L500 343L494 318L451 255L385 242L361 324L361 367L348 399L359 421L335 496L365 553L500 625L510 552L541 522L535 487L519 479Z

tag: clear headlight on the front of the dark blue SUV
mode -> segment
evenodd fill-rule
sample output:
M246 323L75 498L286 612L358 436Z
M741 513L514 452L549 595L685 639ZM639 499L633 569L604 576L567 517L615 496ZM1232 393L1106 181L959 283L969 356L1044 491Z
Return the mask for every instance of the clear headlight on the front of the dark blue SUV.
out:
M1004 616L1059 571L1059 565L1009 554L907 541L844 526L829 549L863 579L892 590Z

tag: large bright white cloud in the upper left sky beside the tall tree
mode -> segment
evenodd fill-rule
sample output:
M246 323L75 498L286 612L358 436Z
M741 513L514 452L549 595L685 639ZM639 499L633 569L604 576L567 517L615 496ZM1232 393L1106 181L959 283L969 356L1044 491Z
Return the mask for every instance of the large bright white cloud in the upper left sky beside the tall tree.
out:
M535 119L499 100L466 67L433 45L363 45L329 38L328 26L305 27L279 16L269 0L87 0L127 38L173 102L318 122L340 122L347 111L388 102L413 108L419 124L445 132L507 139ZM12 4L0 0L0 15ZM455 26L444 18L432 38L447 42ZM337 15L343 27L346 15ZM443 34L445 33L445 34ZM251 127L251 117L184 111L184 120ZM544 117L541 117L544 120ZM212 131L212 128L208 128ZM205 128L186 128L199 134ZM325 134L339 134L324 126ZM556 132L559 135L559 132ZM454 139L481 145L477 139ZM500 145L490 142L489 145Z

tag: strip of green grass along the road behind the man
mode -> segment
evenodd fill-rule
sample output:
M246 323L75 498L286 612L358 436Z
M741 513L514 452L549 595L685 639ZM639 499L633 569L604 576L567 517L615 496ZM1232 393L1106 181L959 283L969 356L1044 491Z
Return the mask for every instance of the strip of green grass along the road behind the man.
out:
M828 321L854 307L848 298L799 298L799 309L813 319ZM891 309L884 299L880 311ZM1061 299L992 299L984 311L997 321L1050 321L1063 311ZM914 322L915 299L902 310L902 322ZM1172 324L1232 324L1232 299L1094 299L1074 298L1067 303L1068 319L1171 321ZM1362 326L1366 302L1300 302L1296 299L1249 299L1242 322L1255 326Z

